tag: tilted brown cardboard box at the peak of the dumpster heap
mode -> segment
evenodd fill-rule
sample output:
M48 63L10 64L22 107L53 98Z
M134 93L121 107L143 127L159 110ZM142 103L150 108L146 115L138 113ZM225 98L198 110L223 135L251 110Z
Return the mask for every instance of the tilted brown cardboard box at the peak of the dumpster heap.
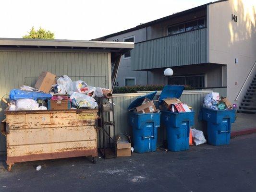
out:
M51 86L55 83L55 78L55 74L50 72L41 72L37 83L35 84L35 88L45 93L49 93Z

